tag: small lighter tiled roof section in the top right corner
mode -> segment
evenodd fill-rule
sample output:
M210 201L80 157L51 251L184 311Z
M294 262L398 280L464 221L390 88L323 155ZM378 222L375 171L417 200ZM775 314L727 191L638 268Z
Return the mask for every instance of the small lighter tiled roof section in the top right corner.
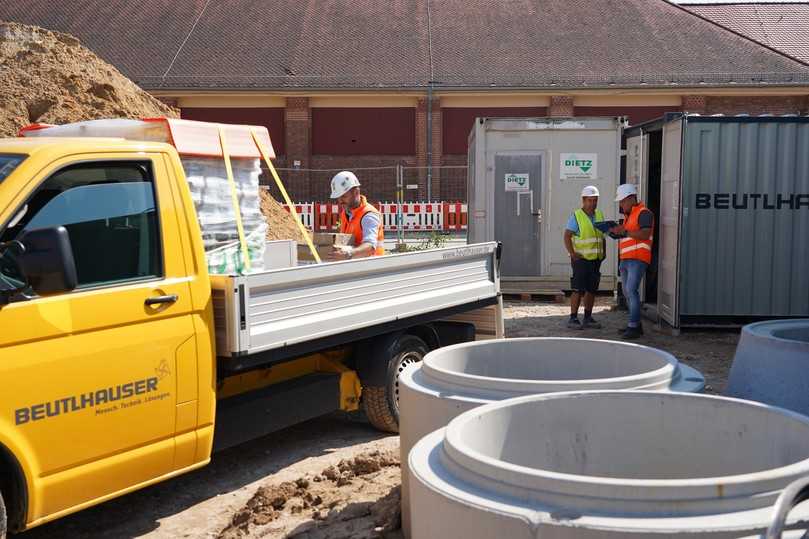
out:
M809 2L686 5L694 13L809 63Z

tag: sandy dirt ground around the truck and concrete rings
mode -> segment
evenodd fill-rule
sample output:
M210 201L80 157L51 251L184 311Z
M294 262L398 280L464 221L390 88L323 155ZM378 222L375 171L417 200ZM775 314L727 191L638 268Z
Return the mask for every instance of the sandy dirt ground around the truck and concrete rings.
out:
M626 312L600 300L600 330L568 330L568 307L507 302L509 337L614 339ZM660 333L638 342L668 350L721 393L738 331ZM333 414L214 455L209 466L26 533L25 539L294 537L400 539L398 436Z

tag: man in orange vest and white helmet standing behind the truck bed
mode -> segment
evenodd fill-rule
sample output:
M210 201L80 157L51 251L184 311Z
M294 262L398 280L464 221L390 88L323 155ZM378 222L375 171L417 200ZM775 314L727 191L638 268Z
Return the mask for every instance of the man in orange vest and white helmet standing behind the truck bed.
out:
M360 193L360 182L344 170L331 180L331 198L340 204L339 232L351 234L352 246L335 246L331 260L349 260L385 254L382 214Z

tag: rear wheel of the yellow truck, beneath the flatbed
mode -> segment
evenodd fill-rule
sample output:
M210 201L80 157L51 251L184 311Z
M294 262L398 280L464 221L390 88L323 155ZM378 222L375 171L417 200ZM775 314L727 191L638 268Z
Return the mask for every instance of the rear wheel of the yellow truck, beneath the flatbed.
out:
M371 425L385 432L399 432L399 375L429 351L424 341L413 335L403 335L396 341L388 359L387 383L362 388L363 407Z

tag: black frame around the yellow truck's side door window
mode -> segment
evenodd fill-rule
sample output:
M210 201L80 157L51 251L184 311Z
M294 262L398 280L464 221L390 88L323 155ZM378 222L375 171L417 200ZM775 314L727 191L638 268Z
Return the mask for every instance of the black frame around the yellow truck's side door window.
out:
M140 157L140 158L138 158ZM120 166L125 164L131 164L133 166L144 166L146 167L149 180L152 184L152 194L154 196L155 201L155 226L157 227L157 234L156 240L158 243L157 248L157 268L159 275L149 275L144 277L133 277L131 279L122 279L117 281L104 281L101 283L94 283L91 285L82 286L79 284L74 290L67 292L65 294L59 294L59 296L67 295L67 294L75 294L81 293L85 291L92 291L92 290L103 290L107 288L116 288L121 286L127 286L132 284L139 284L139 283L148 283L148 282L157 282L166 279L166 257L165 257L165 242L163 241L163 223L160 217L160 195L158 194L157 189L157 175L155 174L155 170L157 169L157 163L155 162L155 157L153 156L133 156L129 157L120 157L120 158L107 158L107 159L80 159L76 161L71 161L70 163L65 163L63 165L56 166L54 169L46 172L46 175L36 182L36 186L33 187L29 192L28 195L22 200L17 207L9 214L8 219L6 222L2 223L2 227L0 227L0 236L5 234L6 230L8 230L8 224L17 216L17 214L22 210L25 205L27 205L33 199L34 195L39 191L39 189L51 178L55 175L63 172L67 169L71 168L80 168L82 165L96 165L96 168L104 168L104 165L107 166ZM86 185L86 184L85 184ZM43 206L44 208L44 206ZM26 291L27 292L27 291ZM32 296L24 296L23 294L18 294L14 300L33 300L38 299L40 296L36 294Z

